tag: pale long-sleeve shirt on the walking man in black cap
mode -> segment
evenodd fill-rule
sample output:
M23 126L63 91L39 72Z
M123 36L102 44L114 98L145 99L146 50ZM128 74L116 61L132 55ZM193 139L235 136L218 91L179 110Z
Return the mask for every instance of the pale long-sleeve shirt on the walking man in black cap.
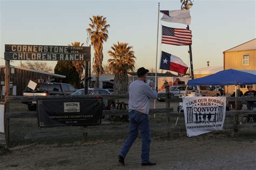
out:
M136 110L149 114L150 99L157 99L157 91L154 87L142 80L133 81L129 86L129 112Z

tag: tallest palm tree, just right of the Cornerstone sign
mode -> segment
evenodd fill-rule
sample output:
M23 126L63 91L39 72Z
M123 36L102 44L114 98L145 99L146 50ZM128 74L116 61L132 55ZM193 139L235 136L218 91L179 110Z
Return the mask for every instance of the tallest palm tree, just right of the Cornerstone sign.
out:
M109 38L109 24L106 24L106 18L103 16L92 16L90 18L91 24L89 24L89 28L86 29L88 37L87 41L91 40L91 45L95 50L94 58L93 58L93 71L96 73L96 88L99 88L99 75L104 73L104 69L102 67L103 61L103 42L106 42L107 38Z

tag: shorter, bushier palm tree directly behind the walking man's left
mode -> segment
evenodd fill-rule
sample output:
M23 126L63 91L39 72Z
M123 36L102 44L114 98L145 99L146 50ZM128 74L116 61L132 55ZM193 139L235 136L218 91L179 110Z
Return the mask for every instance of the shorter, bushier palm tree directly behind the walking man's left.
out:
M113 58L107 60L109 69L114 74L114 93L125 94L128 90L128 71L134 70L135 56L128 43L117 43L111 46L113 51L107 51Z

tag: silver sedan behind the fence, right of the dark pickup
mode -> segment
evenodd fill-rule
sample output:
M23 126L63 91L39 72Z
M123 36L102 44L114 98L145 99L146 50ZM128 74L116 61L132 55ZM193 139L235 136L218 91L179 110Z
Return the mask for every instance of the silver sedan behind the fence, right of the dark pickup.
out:
M80 89L71 95L83 95L83 94L84 94L84 89ZM93 96L100 96L101 94L112 94L112 93L106 89L88 89L88 94ZM103 110L114 110L115 107L116 107L116 104L113 99L103 99Z

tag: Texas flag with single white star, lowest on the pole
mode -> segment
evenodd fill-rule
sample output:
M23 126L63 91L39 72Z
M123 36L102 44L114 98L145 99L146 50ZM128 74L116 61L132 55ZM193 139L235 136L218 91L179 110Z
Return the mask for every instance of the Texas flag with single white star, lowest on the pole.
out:
M162 51L160 69L170 70L185 75L188 66L179 57Z

